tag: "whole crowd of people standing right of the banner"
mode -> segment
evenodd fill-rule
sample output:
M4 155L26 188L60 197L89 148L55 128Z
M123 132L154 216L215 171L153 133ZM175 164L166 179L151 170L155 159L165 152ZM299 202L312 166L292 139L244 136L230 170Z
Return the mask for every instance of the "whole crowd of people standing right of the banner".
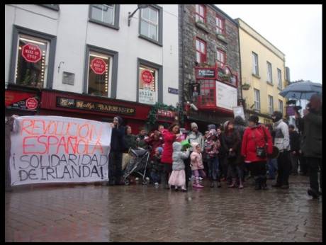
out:
M148 149L147 178L154 186L187 191L189 183L192 188L204 188L202 180L207 177L210 188L241 189L252 178L255 190L269 189L267 179L275 180L274 188L288 189L289 176L298 175L300 166L300 174L310 177L308 194L318 198L322 194L321 96L311 97L303 115L296 112L296 126L285 123L282 113L274 111L273 124L259 123L257 115L251 115L248 122L237 116L223 125L208 125L204 133L196 123L191 123L190 132L180 132L180 126L173 123L169 128L159 125L148 135L144 127L133 135L117 116L111 124L108 184L124 184L129 149Z

